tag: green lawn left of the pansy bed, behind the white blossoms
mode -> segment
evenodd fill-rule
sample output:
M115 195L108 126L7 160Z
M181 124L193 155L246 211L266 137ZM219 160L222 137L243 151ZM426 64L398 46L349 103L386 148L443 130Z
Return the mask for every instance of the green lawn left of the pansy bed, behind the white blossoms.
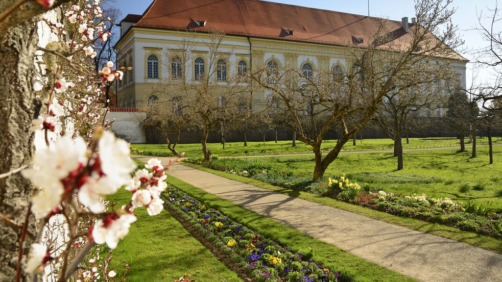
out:
M120 189L107 199L125 204L130 198L131 192ZM136 215L129 234L113 251L112 265L124 261L130 266L127 281L172 282L185 273L198 281L242 281L168 212L149 216L140 208ZM117 272L122 277L124 267Z

